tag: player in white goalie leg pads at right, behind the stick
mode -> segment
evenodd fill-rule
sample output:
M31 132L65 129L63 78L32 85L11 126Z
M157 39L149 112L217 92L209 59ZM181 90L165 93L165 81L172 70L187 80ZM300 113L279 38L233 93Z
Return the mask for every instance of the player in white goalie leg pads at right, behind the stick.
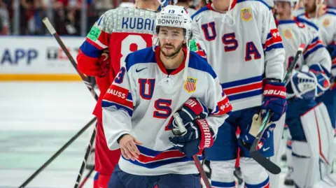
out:
M323 172L325 166L328 165L323 162L320 164L319 154L321 147L323 147L321 155L325 154L327 163L332 161L328 146L332 145L333 140L329 137L332 129L325 106L318 105L314 98L321 96L330 87L331 58L323 42L318 38L318 32L309 29L302 22L298 22L296 17L293 17L294 1L274 1L278 29L286 50L286 67L289 67L293 62L295 49L299 48L302 43L306 44L303 55L295 66L297 71L291 75L287 87L286 124L290 131L291 140L289 142L293 151L288 156L289 169L286 183L290 183L290 178L293 178L293 184L296 187L321 186L323 180L326 179L324 176L328 176L330 171ZM323 110L325 110L327 117L321 115ZM314 112L316 116L305 115L309 112ZM321 118L324 120L321 121ZM316 126L318 131L316 131ZM316 142L322 145L318 146ZM328 185L323 185L327 188L326 186ZM328 187L335 186L334 183Z

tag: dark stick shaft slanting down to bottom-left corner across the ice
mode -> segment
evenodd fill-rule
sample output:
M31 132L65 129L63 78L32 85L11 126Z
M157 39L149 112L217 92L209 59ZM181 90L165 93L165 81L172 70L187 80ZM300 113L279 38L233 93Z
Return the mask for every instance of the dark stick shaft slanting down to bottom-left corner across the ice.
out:
M66 149L66 147L71 145L71 143L73 143L73 141L76 140L84 131L86 131L86 129L89 128L89 126L93 124L96 120L97 117L92 118L92 120L88 122L82 129L80 129L80 131L78 131L75 136L73 136L67 143L63 145L63 147L61 147L54 155L52 155L52 157L50 157L48 161L46 161L40 168L38 168L27 180L25 180L25 182L23 182L19 188L26 187L29 182L31 182L31 180L36 177L36 175L41 173L41 171L43 171L45 167L47 167L57 156L59 156L59 154L61 154Z

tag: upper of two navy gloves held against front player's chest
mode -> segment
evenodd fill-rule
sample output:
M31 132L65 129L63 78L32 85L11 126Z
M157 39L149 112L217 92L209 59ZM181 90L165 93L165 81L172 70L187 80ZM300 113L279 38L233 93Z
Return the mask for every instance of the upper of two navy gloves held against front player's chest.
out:
M179 113L183 124L186 125L193 120L204 119L208 116L209 110L199 99L190 98L186 103L183 103L181 110L176 111L176 113ZM172 117L173 119L174 117ZM176 123L172 120L169 127L174 126L172 124Z

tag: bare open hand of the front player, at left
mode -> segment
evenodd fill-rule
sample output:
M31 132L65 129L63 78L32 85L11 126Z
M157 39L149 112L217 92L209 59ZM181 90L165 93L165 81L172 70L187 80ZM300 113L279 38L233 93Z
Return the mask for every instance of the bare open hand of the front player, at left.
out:
M141 144L142 143L137 140L137 138L134 138L130 134L125 134L119 140L121 154L123 154L125 159L131 159L132 161L135 161L135 159L139 158L140 152L137 145Z

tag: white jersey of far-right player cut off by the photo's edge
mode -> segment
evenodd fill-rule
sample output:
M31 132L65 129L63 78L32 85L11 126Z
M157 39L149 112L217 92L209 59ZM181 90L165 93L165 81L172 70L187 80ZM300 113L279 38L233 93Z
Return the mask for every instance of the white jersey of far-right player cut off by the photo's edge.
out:
M321 37L322 41L327 45L332 45L336 48L336 13L327 9L324 15L320 17L309 17L306 13L302 13L298 15L302 20L308 20L313 22L318 27L318 34ZM331 57L334 59L332 61L332 69L331 73L335 77L336 76L336 57Z

